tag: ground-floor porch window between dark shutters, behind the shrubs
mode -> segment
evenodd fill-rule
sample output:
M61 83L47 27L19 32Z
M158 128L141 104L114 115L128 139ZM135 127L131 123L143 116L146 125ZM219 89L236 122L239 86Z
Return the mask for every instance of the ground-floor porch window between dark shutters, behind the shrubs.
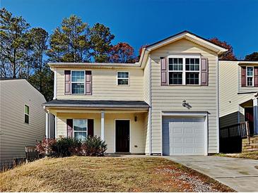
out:
M88 136L88 120L87 119L74 119L74 138L86 139Z

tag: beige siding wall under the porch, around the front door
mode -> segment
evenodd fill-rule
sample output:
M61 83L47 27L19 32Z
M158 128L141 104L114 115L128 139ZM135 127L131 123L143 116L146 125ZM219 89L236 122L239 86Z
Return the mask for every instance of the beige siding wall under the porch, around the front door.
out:
M137 116L137 121L134 117ZM67 118L94 119L94 135L100 136L100 113L58 113L57 114L57 137L66 137ZM107 153L115 152L115 119L130 120L130 144L131 153L145 153L146 129L144 120L146 113L105 113L105 142Z

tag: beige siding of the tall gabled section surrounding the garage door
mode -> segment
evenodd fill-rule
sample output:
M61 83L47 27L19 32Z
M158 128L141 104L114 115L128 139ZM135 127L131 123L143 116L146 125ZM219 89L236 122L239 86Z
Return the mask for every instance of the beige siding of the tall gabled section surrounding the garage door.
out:
M209 86L160 86L160 57L175 54L201 54L209 59ZM168 111L209 111L209 153L218 152L217 112L217 61L216 54L209 49L181 39L151 51L151 105L152 105L152 153L162 152L161 112ZM192 106L182 106L182 101Z

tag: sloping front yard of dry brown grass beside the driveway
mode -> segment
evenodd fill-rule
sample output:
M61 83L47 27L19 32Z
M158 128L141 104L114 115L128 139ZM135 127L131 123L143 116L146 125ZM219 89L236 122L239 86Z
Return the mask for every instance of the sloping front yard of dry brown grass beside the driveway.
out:
M165 158L44 158L0 173L1 192L233 192Z

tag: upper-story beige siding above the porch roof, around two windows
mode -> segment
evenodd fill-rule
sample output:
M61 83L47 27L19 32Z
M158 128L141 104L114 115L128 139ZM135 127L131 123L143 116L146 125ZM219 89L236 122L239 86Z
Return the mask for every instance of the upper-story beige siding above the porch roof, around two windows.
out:
M142 69L86 69L92 71L92 95L64 94L64 70L57 68L57 99L103 99L103 100L139 100L143 101ZM129 86L117 85L117 71L129 71Z

